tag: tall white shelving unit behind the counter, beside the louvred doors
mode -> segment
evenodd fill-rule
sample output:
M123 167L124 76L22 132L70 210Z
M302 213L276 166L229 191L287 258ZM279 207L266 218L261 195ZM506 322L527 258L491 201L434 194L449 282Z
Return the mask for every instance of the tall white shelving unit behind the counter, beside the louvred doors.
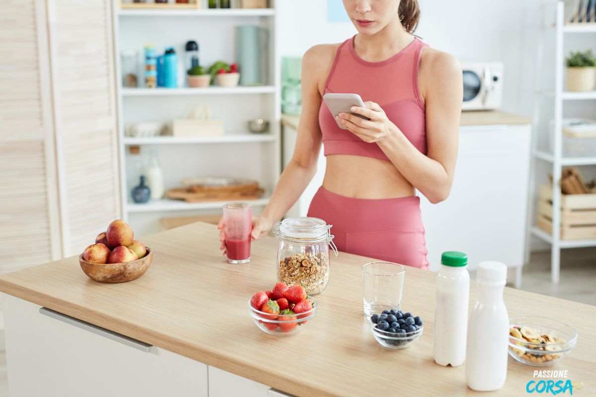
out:
M217 9L205 8L120 8L113 0L114 52L117 67L117 105L119 108L120 185L123 217L135 227L139 235L157 231L160 217L213 214L221 211L224 202L190 203L169 199L135 204L131 188L142 160L148 152L156 153L164 173L166 189L179 186L185 177L229 176L259 180L269 194L281 169L280 102L281 71L279 56L279 23L277 1L271 8ZM216 60L234 62L234 27L255 24L268 30L265 54L268 76L263 86L175 89L145 88L144 76L139 75L139 87L122 87L120 52L134 50L142 58L142 48L152 43L158 53L173 46L178 61L184 60L184 43L197 41L200 64L209 66ZM240 65L241 67L241 65ZM182 79L180 79L182 80ZM224 120L225 133L206 137L127 137L125 126L131 122L160 121L182 118L197 105L209 105L214 118ZM252 118L269 120L268 133L246 131ZM130 146L140 146L141 155L129 153ZM143 157L145 156L145 157ZM265 197L250 201L258 213L268 202Z

